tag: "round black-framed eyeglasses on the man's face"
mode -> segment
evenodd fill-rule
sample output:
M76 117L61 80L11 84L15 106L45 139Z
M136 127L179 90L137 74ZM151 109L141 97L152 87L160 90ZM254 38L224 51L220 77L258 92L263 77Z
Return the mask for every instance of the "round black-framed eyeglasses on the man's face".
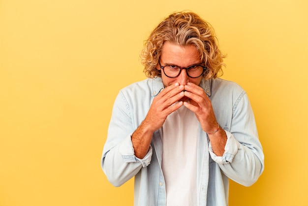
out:
M200 77L204 72L207 72L208 69L205 66L202 65L192 65L189 67L178 67L176 65L165 65L165 66L161 66L160 65L160 60L158 60L160 69L163 70L164 74L169 77L169 78L176 78L180 75L182 69L186 70L186 74L187 76L189 76L190 78L198 78Z

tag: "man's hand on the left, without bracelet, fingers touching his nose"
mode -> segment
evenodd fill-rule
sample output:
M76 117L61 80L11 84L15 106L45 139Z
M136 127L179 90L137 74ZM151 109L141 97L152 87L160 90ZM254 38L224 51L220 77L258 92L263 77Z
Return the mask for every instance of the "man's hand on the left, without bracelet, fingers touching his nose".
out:
M144 123L153 132L164 124L167 116L180 108L183 102L179 101L184 97L184 85L175 83L163 89L153 100Z

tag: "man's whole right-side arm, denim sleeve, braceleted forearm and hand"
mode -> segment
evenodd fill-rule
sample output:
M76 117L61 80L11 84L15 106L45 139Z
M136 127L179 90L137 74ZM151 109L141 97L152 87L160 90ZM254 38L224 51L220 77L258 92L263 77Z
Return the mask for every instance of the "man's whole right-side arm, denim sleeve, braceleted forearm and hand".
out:
M191 100L184 105L195 112L203 131L208 134L216 131L217 121L212 103L203 89L187 83L185 90L185 96ZM219 127L215 134L208 135L209 151L212 159L219 164L226 176L249 186L263 172L264 155L253 112L244 91L233 105L232 111L230 132Z

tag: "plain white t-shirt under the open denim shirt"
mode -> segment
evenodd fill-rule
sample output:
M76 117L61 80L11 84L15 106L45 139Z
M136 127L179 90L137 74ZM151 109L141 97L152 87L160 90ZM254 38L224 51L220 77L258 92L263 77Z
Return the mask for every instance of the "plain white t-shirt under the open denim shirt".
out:
M197 129L194 112L182 106L162 126L162 171L167 206L196 206Z

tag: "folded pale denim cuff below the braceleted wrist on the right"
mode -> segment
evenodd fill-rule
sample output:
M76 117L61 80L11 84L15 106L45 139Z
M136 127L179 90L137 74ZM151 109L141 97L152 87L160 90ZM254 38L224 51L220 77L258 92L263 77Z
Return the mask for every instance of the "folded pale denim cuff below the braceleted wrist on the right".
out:
M228 163L232 163L234 156L236 155L236 153L238 152L239 149L239 142L233 137L233 135L228 132L225 131L226 135L227 135L227 142L226 145L224 147L224 153L222 156L217 156L214 152L213 152L213 148L211 145L211 142L209 143L209 152L210 155L212 157L212 159L218 163L218 164L228 164Z

